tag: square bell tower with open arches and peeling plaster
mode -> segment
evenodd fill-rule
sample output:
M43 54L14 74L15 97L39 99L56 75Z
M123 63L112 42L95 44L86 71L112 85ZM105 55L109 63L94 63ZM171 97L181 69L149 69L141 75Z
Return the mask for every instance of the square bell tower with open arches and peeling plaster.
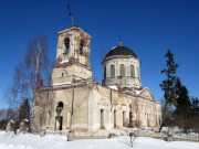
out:
M56 62L52 85L71 84L92 78L90 65L91 35L78 26L57 32Z

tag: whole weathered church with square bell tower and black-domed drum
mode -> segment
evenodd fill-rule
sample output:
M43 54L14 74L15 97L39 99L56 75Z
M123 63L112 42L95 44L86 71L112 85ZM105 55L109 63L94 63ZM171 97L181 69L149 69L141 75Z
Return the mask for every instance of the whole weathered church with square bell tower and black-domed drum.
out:
M93 79L91 39L76 25L57 32L51 85L34 89L33 130L95 132L159 126L161 105L142 86L136 53L122 41L109 50L102 62L101 85Z

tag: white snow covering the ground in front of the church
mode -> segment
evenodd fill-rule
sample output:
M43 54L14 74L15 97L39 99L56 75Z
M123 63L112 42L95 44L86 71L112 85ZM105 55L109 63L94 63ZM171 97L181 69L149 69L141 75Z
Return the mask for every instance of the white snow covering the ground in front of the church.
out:
M0 131L0 149L130 149L129 137L66 141L65 136ZM134 149L199 149L199 142L172 141L138 137Z

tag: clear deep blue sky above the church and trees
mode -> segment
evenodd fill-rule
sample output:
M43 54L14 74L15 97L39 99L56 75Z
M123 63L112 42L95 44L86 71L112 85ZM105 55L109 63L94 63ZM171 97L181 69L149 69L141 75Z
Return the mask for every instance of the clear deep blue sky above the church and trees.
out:
M55 60L56 32L74 23L92 35L91 64L102 79L101 51L118 44L130 47L142 60L143 86L156 99L163 97L164 54L168 49L179 64L177 75L191 96L199 97L199 1L198 0L0 0L0 108L14 66L28 42L48 35L50 58Z

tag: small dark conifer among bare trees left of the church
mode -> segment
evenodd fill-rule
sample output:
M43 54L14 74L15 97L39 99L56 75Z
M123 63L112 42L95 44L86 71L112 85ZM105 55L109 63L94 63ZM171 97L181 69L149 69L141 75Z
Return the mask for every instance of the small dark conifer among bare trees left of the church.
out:
M20 106L19 121L22 121L23 119L28 119L28 121L30 121L30 105L29 105L29 99L25 99L23 102L23 104Z

